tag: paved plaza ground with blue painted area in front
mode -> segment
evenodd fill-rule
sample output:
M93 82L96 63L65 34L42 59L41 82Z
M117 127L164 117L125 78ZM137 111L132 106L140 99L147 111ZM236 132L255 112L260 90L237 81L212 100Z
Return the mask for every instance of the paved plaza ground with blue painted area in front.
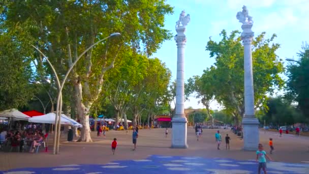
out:
M4 153L0 152L0 171L4 173L256 173L255 152L242 150L243 140L230 130L220 130L224 137L231 137L230 150L218 151L214 133L203 129L197 141L194 129L188 128L189 149L170 149L171 140L165 137L165 129L140 130L137 150L132 151L132 131L109 131L106 138L92 132L94 142L65 142L60 154ZM169 133L171 129L169 129ZM118 147L111 152L112 139ZM268 139L273 138L274 162L267 163L269 173L309 173L309 137L260 131L260 142L268 153ZM49 143L50 145L52 142ZM224 144L224 143L223 143ZM254 160L254 161L253 161ZM19 171L19 172L16 172ZM27 171L27 172L22 172ZM1 173L1 172L0 172Z

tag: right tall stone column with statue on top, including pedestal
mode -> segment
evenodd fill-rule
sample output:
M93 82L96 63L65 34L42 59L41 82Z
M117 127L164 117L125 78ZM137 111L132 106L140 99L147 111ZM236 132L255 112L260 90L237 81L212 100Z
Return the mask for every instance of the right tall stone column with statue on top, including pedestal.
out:
M249 16L248 9L243 6L242 11L238 12L236 18L242 23L243 30L241 39L244 48L244 118L243 127L243 149L256 150L260 142L259 121L255 117L254 108L254 89L252 72L252 39L254 32L252 17Z

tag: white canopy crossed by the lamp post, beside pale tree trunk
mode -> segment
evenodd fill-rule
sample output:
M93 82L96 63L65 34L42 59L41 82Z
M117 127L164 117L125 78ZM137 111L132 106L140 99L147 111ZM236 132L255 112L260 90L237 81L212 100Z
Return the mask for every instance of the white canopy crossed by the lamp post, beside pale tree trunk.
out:
M45 115L40 115L38 117L30 118L28 121L32 123L48 123L48 124L54 124L55 123L56 114L55 113L47 113ZM76 122L73 119L70 119L65 114L61 114L61 125L71 125L74 127L82 127L81 124Z

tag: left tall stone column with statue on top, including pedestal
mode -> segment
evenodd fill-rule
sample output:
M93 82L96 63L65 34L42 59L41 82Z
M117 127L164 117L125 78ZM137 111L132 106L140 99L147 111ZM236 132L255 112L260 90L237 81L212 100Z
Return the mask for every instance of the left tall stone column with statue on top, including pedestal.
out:
M177 45L177 77L176 77L176 105L175 115L172 120L172 146L171 148L187 149L187 118L184 115L184 46L187 38L184 33L190 22L190 15L186 16L184 10L176 22L175 41Z

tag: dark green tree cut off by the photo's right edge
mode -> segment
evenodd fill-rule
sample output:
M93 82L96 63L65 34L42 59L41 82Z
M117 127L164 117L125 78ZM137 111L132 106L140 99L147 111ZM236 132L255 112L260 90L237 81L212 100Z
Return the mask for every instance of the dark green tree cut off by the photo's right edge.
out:
M298 53L297 64L287 66L286 98L298 103L298 108L309 118L309 44L304 43Z

